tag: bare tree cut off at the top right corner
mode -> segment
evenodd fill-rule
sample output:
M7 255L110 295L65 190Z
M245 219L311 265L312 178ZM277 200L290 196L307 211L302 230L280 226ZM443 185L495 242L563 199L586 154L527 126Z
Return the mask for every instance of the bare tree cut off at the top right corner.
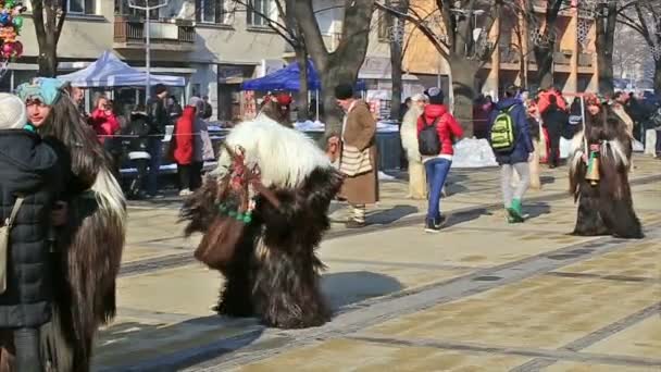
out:
M640 34L647 42L654 59L654 92L661 95L661 3L634 0L632 10L620 15L620 22Z

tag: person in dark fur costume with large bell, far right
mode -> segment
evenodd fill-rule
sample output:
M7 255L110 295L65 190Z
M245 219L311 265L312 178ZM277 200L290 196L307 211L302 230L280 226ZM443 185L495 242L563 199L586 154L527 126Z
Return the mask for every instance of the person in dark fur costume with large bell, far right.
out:
M627 177L632 139L626 125L597 96L587 96L586 104L570 168L570 191L578 201L573 234L643 238Z

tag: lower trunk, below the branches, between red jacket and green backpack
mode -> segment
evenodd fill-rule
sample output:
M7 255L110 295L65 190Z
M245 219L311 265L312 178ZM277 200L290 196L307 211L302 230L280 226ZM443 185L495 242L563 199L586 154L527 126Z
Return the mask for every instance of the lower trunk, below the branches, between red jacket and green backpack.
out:
M475 99L475 74L479 65L460 55L450 58L452 69L452 94L454 117L463 128L465 138L473 137L473 101Z

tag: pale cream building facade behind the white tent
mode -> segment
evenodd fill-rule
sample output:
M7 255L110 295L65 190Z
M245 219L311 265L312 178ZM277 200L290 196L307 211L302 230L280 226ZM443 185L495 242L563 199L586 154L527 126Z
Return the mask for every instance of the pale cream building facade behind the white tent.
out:
M147 1L152 5L164 2ZM71 0L67 3L67 16L58 44L60 74L87 66L107 50L129 65L144 69L147 16L144 11L132 9L128 0ZM344 1L338 0L314 2L329 50L337 47L341 35L342 4ZM170 0L167 7L152 11L149 15L152 73L185 77L186 86L172 88L173 96L180 101L191 95L209 96L214 109L212 119L239 119L246 109L240 84L283 67L292 57L291 48L259 14L277 18L274 0L254 1L253 5L260 12L251 12L230 0ZM389 46L387 40L379 40L376 27L373 28L361 77L378 86L378 82L390 79ZM24 55L10 64L9 73L0 83L4 91L36 76L38 70L38 44L29 2L20 39ZM87 95L88 107L90 97L99 91L109 91L116 100L127 102L144 101L146 96L139 87L91 89Z

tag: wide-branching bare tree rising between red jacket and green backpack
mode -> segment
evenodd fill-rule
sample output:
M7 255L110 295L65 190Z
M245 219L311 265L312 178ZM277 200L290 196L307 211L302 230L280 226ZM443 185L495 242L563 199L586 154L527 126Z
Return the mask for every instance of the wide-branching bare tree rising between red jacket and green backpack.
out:
M376 3L378 8L413 24L449 62L452 73L454 115L462 123L465 136L473 135L473 99L475 76L490 60L497 42L488 40L499 17L503 0L436 0L435 9L412 4L407 12L395 4ZM438 26L434 26L438 20ZM482 27L478 27L482 24ZM479 35L475 30L481 29ZM499 32L496 35L499 36Z

